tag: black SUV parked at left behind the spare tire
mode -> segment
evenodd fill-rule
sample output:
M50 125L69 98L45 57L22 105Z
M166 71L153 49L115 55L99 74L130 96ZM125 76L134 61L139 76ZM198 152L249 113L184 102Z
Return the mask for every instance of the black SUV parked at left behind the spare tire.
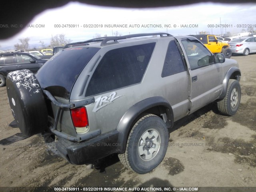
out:
M36 73L38 69L46 62L31 53L1 53L0 54L0 87L5 86L6 76L9 72L28 69Z

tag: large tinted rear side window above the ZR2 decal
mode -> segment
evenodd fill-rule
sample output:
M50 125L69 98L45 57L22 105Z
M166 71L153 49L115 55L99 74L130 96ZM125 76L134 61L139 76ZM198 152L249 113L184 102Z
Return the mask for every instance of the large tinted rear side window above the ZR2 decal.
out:
M140 83L155 44L148 43L108 51L92 75L86 96Z

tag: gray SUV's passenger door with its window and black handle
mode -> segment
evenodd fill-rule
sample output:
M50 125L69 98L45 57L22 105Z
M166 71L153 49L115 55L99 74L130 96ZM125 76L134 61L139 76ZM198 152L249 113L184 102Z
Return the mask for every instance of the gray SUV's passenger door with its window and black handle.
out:
M191 112L213 102L222 90L222 64L214 63L212 53L198 40L185 38L181 44L186 52L191 80ZM189 47L195 47L191 52Z

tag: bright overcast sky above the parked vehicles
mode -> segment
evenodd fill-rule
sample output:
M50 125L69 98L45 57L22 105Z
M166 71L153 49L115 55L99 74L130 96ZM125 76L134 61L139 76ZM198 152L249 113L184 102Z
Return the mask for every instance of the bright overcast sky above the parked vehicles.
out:
M168 32L174 36L198 34L206 31L212 34L226 32L241 32L242 24L252 25L256 30L256 3L255 4L216 4L200 3L187 6L166 8L109 8L92 6L78 2L70 2L66 6L50 9L35 16L28 26L16 36L0 41L0 50L14 48L20 43L19 38L30 38L32 45L44 41L50 44L50 39L56 34L65 34L72 42L88 40L100 34L112 36L118 31L122 35L135 33ZM220 28L218 24L230 27ZM44 27L36 27L39 24ZM59 25L57 27L54 25ZM74 24L73 28L63 26ZM121 28L105 27L106 24L122 25ZM208 25L214 27L210 27ZM86 26L87 25L87 26ZM132 26L130 26L132 25ZM166 27L165 25L168 25ZM176 25L176 27L174 27ZM183 26L183 27L182 27ZM247 30L246 27L244 27ZM1 29L0 29L1 30ZM11 29L10 29L11 30Z

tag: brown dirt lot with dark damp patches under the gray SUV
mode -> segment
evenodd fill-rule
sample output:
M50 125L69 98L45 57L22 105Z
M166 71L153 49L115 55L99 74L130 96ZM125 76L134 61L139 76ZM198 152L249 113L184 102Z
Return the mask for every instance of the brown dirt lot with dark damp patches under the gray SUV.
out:
M152 172L136 174L117 155L87 170L49 155L36 135L0 146L0 186L256 186L256 54L232 58L242 71L237 114L222 116L210 104L175 122L166 156ZM0 140L18 133L8 126L6 87L0 88L0 114Z

